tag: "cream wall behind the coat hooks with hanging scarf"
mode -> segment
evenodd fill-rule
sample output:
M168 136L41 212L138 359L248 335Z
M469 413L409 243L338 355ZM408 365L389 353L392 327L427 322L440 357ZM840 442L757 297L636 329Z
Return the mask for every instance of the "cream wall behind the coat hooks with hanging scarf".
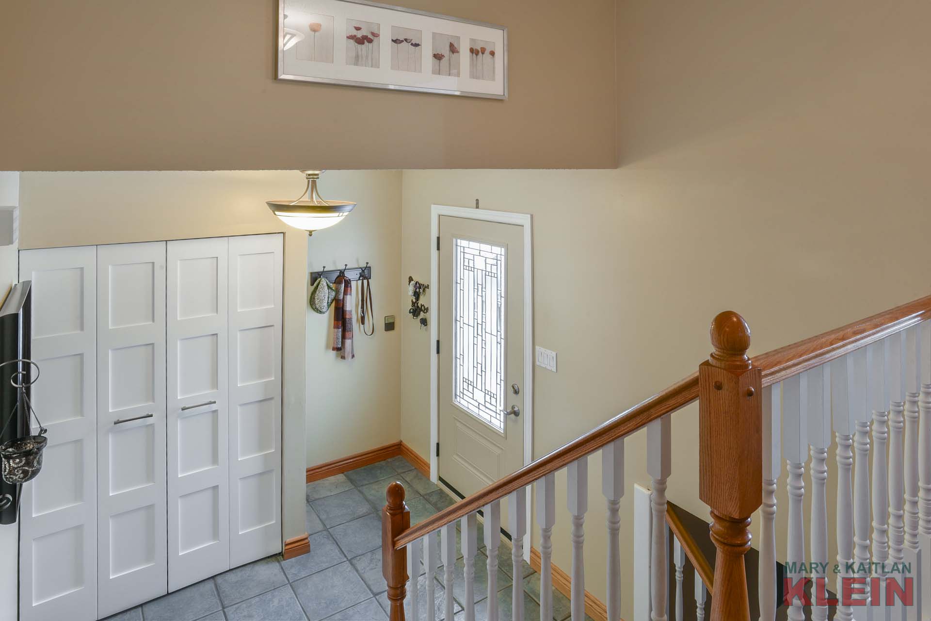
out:
M331 351L332 312L307 314L307 466L397 442L400 438L400 330L385 332L385 315L399 317L400 196L398 170L339 173L353 180L351 190L321 182L324 197L352 196L358 201L344 222L313 236L307 248L308 271L371 263L375 333L358 325L358 282L355 298L356 358L343 360ZM358 180L358 182L356 181ZM399 318L398 318L399 320ZM397 325L397 324L396 324Z

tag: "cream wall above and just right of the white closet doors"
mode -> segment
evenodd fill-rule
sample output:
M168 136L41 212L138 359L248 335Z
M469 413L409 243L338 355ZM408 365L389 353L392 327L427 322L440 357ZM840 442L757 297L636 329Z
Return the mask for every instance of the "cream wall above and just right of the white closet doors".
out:
M328 172L322 187L328 196L358 200L353 214L358 220L368 212L382 222L387 219L382 211L390 212L397 201L392 194L397 193L397 176L391 171ZM305 354L308 237L280 223L264 205L270 198L297 196L304 185L301 176L294 171L23 172L20 184L23 249L285 232L283 522L285 538L304 533L304 468L310 459L305 457L305 427L308 420L320 425L328 413L306 407L304 398L307 372L317 371L308 362L323 363ZM374 237L371 232L359 235ZM327 241L328 236L344 234L339 227L320 232L311 244L332 244L334 237ZM343 238L347 249L355 243ZM378 257L392 255L390 245L378 247ZM390 339L384 342L390 352ZM397 432L391 439L397 439ZM338 439L331 441L339 452Z

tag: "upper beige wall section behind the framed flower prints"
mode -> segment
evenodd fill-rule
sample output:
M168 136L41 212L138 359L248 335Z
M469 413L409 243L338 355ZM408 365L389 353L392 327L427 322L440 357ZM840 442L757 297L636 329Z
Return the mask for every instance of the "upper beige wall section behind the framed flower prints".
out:
M613 0L403 4L507 26L510 98L278 82L275 0L3 3L0 169L614 167Z

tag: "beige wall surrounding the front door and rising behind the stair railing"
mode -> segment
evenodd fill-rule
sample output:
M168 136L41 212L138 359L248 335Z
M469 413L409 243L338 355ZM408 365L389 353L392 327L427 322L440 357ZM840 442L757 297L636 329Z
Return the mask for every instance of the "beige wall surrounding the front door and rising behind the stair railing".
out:
M747 318L752 354L928 293L929 19L921 4L622 0L619 169L404 172L404 275L429 276L431 203L533 214L534 341L559 354L535 373L535 457L695 371L722 310ZM403 327L401 438L425 452L431 344ZM672 428L669 498L707 516L697 409ZM627 440L622 558L644 444ZM603 600L600 459L589 471L586 586ZM565 570L569 524L560 502Z

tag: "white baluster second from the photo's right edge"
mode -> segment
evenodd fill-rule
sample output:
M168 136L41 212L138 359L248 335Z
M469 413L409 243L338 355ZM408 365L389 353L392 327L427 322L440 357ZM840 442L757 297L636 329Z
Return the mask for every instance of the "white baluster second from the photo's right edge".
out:
M908 621L920 621L921 603L921 552L918 547L918 393L922 387L922 343L918 326L905 330L905 506L904 549L902 556L911 566L914 580L912 605L906 610Z

